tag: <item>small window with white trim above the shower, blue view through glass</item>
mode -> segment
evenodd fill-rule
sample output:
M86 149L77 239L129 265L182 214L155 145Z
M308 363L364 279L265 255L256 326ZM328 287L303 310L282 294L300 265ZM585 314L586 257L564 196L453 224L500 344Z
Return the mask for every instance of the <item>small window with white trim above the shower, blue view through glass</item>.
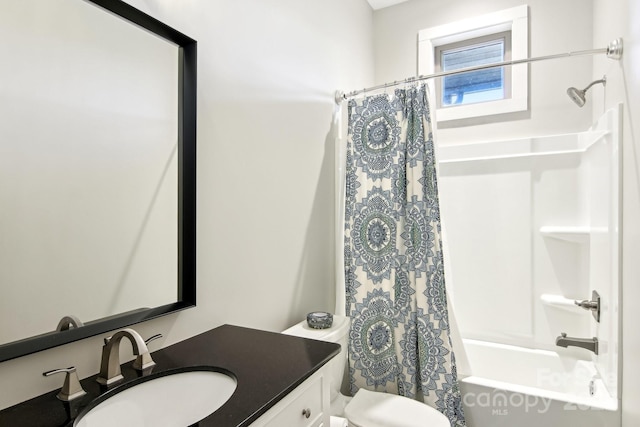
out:
M528 57L528 9L520 6L419 34L421 75ZM528 108L528 66L486 68L435 79L439 122Z

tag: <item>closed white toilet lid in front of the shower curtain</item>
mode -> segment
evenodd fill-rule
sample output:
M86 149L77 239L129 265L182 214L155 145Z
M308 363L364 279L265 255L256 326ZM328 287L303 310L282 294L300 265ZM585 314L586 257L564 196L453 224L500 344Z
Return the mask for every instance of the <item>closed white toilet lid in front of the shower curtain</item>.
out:
M350 423L366 427L451 427L437 409L417 400L360 389L344 408Z

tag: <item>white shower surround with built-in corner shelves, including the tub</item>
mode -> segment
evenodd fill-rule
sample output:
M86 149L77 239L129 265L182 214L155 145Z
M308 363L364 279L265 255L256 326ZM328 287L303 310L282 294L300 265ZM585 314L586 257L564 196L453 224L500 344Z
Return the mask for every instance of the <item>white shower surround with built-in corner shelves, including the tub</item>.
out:
M439 147L471 426L489 391L497 400L486 408L497 412L480 426L496 425L502 392L537 399L544 413L618 410L620 108L585 132ZM593 291L599 322L575 304ZM597 338L598 354L558 347L561 333ZM529 425L511 416L505 425Z

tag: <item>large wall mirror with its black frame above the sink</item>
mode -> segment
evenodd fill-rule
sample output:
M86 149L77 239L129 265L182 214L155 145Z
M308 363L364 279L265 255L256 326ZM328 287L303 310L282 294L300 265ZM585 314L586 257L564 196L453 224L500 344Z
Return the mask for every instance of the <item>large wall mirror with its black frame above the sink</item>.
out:
M0 36L0 362L195 306L196 41L120 0Z

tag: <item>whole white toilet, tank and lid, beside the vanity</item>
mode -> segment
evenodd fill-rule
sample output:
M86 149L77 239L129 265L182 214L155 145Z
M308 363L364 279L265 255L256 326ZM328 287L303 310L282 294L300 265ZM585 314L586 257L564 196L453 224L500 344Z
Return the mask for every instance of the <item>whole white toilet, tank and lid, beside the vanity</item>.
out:
M360 389L349 398L340 393L347 363L347 337L350 319L333 316L327 329L313 329L307 321L290 327L283 334L340 344L340 354L328 363L331 415L345 417L349 427L451 427L440 411L424 403L388 393Z

